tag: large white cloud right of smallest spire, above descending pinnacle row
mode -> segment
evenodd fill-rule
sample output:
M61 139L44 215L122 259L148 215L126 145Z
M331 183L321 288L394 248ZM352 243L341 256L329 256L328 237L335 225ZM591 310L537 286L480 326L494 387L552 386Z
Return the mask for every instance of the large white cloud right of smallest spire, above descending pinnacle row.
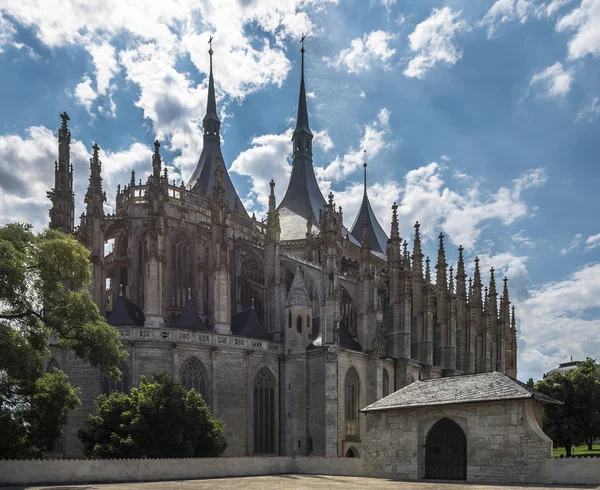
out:
M523 191L545 182L542 169L534 169L513 181L510 188L482 192L473 185L461 195L445 186L444 167L436 162L411 170L405 176L398 216L404 229L421 223L425 237L434 239L440 228L455 245L473 249L488 220L508 225L528 216Z

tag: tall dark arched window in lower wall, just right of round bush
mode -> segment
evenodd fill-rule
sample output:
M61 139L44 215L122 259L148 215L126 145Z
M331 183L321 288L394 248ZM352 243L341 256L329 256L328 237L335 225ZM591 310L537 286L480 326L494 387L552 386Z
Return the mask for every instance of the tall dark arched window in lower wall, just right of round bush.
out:
M254 381L254 454L275 453L275 378L262 368Z

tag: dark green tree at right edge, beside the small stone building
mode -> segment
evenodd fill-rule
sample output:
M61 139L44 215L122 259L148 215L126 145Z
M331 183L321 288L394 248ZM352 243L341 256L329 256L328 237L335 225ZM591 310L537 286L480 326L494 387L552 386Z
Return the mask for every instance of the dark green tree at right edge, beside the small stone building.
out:
M544 431L567 457L571 447L586 441L591 449L600 435L600 367L587 359L566 373L558 372L538 381L536 389L563 402L544 407Z

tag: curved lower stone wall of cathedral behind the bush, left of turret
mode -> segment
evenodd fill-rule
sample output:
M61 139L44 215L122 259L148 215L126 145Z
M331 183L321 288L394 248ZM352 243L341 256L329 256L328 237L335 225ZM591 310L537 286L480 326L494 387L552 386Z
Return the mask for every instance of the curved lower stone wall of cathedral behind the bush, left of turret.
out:
M232 341L237 337L228 337ZM244 342L250 339L242 339ZM253 396L254 381L258 371L266 367L275 379L275 393L279 392L279 352L264 349L231 348L229 346L203 346L190 343L136 341L127 345L129 358L125 361L132 386L138 386L141 376L151 378L153 373L166 372L179 377L183 364L190 356L198 358L208 376L207 404L214 415L225 425L227 450L225 456L253 455ZM89 414L94 412L94 402L102 392L103 376L97 368L76 359L72 353L52 350L69 382L81 389L81 407L69 414L64 427L63 454L68 457L82 455L77 431L83 427ZM277 404L279 405L279 404ZM279 425L279 409L275 423ZM275 448L279 447L279 429L274 430Z

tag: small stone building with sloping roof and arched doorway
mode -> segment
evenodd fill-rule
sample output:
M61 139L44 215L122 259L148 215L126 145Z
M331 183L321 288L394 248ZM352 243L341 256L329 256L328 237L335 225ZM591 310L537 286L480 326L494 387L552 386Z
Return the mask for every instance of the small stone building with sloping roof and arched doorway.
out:
M500 372L416 381L361 411L364 469L399 479L539 481L552 440L542 406L560 404Z

